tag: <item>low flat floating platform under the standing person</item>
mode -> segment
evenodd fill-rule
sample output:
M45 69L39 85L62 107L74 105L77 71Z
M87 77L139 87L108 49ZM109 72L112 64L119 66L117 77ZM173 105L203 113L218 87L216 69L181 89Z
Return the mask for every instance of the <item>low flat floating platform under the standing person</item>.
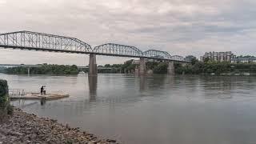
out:
M10 95L10 99L46 99L46 100L53 100L53 99L60 99L60 98L68 98L69 94L46 94L41 95L40 93L26 93L22 95Z

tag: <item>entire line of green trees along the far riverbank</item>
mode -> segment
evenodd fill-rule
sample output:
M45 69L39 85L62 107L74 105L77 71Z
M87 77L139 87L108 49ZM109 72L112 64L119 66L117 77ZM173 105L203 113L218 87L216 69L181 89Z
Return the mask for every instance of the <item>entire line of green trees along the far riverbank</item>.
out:
M198 61L191 56L190 64L182 66L181 63L174 62L175 74L256 74L256 63L230 63L215 62L206 58L204 62ZM124 64L106 64L108 69L98 69L102 74L127 74L134 73L138 65L133 60L126 61ZM146 62L146 70L153 70L154 74L166 74L168 68L167 62ZM13 67L2 70L6 74L27 74L26 67ZM88 72L88 69L78 69L78 66L48 65L42 64L38 67L30 67L30 74L78 74L79 71Z

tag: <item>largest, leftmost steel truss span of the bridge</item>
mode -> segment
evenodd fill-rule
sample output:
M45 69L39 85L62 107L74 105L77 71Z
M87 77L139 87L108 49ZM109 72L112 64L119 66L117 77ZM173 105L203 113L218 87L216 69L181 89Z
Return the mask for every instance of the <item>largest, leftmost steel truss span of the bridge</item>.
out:
M77 38L42 34L25 30L0 34L0 47L82 54L90 54L93 51L89 44L82 42Z

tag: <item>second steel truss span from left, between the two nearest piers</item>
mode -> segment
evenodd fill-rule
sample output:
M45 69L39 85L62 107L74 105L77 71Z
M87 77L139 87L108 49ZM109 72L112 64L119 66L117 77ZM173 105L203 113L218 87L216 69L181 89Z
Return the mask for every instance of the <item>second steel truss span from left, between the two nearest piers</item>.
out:
M142 50L139 50L135 46L119 45L115 43L106 43L101 46L94 47L95 54L110 54L114 56L131 56L142 57Z

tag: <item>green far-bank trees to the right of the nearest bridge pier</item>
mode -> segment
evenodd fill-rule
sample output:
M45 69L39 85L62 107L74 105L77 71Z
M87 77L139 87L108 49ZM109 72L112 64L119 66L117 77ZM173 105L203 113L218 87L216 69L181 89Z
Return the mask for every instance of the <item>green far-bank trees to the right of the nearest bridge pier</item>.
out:
M190 64L185 66L182 63L174 62L175 74L256 74L256 63L231 63L216 62L206 59L204 62L198 61L194 56L188 57ZM120 65L106 64L104 67L112 67L109 73L127 73L134 71L138 65L132 63L132 60ZM146 69L153 70L154 74L166 74L168 68L167 62L146 62ZM106 72L107 70L105 70ZM102 71L104 73L104 71ZM99 73L101 73L99 71Z

